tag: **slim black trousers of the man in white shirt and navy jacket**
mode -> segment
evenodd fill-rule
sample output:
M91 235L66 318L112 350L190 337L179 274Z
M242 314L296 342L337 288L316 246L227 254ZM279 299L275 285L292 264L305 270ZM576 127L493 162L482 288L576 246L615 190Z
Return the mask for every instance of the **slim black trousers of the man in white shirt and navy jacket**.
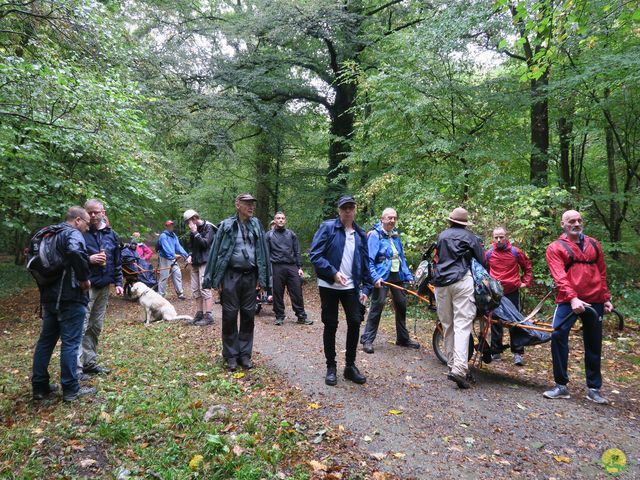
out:
M346 366L356 362L356 349L360 335L360 323L364 319L362 304L355 288L349 290L335 290L320 288L321 319L324 324L322 340L327 367L336 366L336 331L338 330L338 304L342 304L347 318L347 353Z

